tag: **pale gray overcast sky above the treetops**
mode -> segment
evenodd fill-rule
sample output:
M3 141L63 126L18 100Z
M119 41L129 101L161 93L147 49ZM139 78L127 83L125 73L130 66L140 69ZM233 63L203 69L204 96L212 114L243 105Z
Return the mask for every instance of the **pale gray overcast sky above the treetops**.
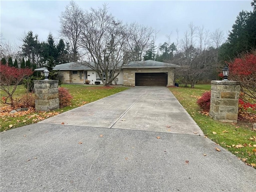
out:
M228 30L242 10L251 11L251 1L85 1L76 3L84 10L97 8L106 2L109 12L123 22L138 22L159 30L156 43L167 41L172 33L176 40L176 29L182 37L188 24L204 25L211 32L220 28L227 36ZM49 32L59 40L59 16L69 1L0 1L1 34L11 44L21 44L20 37L29 30L38 34L40 41L47 40Z

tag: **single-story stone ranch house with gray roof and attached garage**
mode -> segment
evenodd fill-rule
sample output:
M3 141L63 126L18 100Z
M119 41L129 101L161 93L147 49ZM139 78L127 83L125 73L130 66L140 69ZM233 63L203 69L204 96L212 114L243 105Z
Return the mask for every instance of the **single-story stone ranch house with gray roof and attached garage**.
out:
M146 60L146 61L130 61L122 66L118 75L117 84L130 86L172 86L174 85L174 68L178 65ZM46 68L38 68L35 71L43 71ZM78 62L59 64L54 67L63 75L63 83L84 84L86 80L90 80L90 84L100 82L98 74L90 67Z

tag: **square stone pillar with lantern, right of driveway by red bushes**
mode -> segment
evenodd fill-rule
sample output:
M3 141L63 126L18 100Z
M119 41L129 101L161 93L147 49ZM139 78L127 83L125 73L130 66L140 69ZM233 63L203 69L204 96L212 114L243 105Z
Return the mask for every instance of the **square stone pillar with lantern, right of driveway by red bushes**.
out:
M211 81L210 116L214 120L237 123L239 81Z

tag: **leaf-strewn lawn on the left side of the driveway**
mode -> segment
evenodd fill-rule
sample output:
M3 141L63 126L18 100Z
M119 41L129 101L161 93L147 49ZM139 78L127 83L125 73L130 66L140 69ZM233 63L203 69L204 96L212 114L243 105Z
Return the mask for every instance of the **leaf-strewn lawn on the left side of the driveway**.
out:
M34 109L30 108L28 111L18 112L14 114L9 114L9 111L12 110L10 106L6 106L1 104L1 124L0 131L9 130L12 128L18 128L24 125L33 124L49 118L51 116L55 116L57 114L66 112L68 110L77 108L84 104L102 99L104 97L110 96L112 94L121 92L128 88L126 87L102 87L102 86L85 86L85 85L71 85L71 84L63 84L62 87L67 88L70 94L73 96L72 104L70 106L66 106L64 108L60 108L58 110L54 110L51 112L36 112ZM18 86L14 96L19 97L22 94L25 94L26 90L23 86ZM0 92L2 96L2 92ZM4 112L5 109L7 112Z

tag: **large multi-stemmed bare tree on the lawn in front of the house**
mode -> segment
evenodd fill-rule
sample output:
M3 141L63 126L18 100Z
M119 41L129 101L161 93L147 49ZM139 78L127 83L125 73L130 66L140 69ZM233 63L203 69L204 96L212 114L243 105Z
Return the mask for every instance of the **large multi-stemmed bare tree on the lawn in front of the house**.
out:
M104 86L109 86L134 55L130 51L126 33L121 21L108 13L106 4L103 8L86 12L80 28L79 44L86 54L86 61L81 64L95 70ZM92 62L88 62L91 58Z

